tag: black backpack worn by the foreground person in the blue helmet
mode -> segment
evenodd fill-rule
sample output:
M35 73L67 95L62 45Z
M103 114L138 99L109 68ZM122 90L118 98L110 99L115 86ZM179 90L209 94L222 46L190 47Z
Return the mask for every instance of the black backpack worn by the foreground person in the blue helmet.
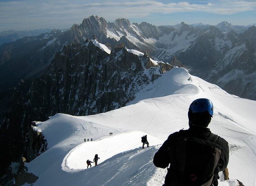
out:
M195 137L177 138L168 147L171 166L168 170L172 186L210 186L222 147L215 142L217 135L209 139Z

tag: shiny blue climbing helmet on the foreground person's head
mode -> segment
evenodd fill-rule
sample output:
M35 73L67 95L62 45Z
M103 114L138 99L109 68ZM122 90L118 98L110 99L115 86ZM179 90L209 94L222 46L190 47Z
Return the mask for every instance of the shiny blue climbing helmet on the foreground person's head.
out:
M213 116L213 104L209 99L206 98L199 98L194 100L190 106L188 111L191 111L192 113L203 113L205 111L208 111L208 113Z

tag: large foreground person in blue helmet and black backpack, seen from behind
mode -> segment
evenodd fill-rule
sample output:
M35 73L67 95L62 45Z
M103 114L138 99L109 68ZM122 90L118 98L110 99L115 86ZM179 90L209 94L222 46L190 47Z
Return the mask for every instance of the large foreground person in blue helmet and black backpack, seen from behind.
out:
M218 172L229 160L228 142L207 128L213 116L209 99L194 100L188 111L189 129L171 134L153 163L167 168L163 186L217 186Z

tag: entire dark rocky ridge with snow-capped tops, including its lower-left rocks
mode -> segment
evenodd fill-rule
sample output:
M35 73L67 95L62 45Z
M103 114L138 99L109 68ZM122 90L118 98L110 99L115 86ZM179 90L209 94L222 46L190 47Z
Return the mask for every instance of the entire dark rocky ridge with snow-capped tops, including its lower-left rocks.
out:
M125 47L110 52L96 39L64 46L44 74L22 85L14 98L12 111L1 125L8 136L1 135L0 141L10 149L1 155L6 159L3 170L11 172L11 162L19 162L22 156L31 161L47 149L43 136L33 131L32 121L47 120L56 113L81 116L122 107L171 68ZM20 148L10 147L14 143Z

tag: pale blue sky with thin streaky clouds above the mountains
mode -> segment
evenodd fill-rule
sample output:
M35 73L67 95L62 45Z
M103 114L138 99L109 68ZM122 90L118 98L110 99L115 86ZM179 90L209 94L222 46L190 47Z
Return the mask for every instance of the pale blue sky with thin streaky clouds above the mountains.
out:
M0 0L0 31L69 28L98 15L106 21L127 18L156 26L185 23L256 23L256 0Z

